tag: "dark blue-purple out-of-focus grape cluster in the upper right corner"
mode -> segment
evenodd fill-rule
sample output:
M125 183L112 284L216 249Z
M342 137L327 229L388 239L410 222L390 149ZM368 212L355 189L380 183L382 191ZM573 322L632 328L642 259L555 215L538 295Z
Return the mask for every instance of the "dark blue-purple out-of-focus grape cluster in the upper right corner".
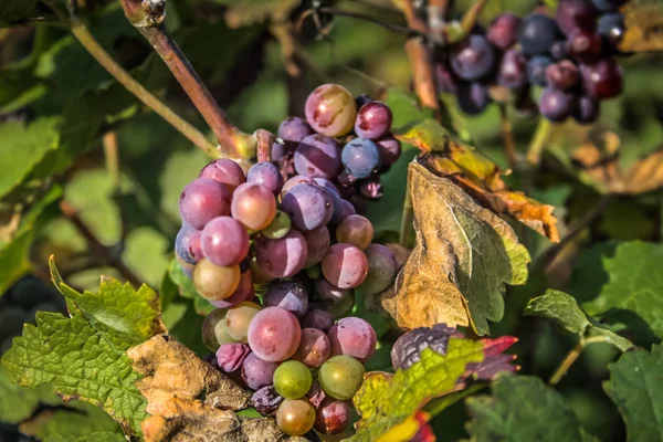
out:
M493 86L514 92L519 109L551 122L572 117L591 124L600 102L623 88L617 44L624 34L619 8L625 0L560 0L555 19L534 12L524 19L498 15L484 30L475 27L463 41L441 51L435 76L441 92L455 94L467 114L483 112ZM538 106L532 86L543 87Z

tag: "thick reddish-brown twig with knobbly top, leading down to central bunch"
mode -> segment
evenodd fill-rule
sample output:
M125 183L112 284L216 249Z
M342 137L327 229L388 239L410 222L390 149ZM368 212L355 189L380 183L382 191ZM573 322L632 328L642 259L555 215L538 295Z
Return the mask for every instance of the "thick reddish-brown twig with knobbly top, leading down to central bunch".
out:
M151 44L172 75L182 86L219 141L219 150L236 159L251 158L255 152L253 135L242 133L229 119L202 83L191 63L166 31L165 1L119 0L125 15Z

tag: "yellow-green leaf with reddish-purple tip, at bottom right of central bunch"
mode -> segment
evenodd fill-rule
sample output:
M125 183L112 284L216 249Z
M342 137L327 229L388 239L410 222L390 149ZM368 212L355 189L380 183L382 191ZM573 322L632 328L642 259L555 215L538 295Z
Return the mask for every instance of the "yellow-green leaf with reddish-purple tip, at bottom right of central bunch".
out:
M511 365L513 357L502 355L514 341L513 338L474 341L452 337L444 355L425 348L421 360L406 370L397 370L394 375L368 372L352 398L361 419L349 441L375 441L385 436L392 428L408 422L427 403L432 403L431 400L463 390L467 379L490 379L496 372L515 370ZM483 376L486 367L494 368L490 377ZM444 409L436 406L431 410Z

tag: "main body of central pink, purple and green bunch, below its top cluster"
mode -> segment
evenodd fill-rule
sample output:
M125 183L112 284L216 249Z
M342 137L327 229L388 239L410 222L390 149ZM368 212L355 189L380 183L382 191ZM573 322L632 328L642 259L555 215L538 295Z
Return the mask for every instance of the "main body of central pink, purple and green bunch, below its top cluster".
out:
M312 165L327 170L325 161ZM291 435L347 427L377 343L367 320L348 315L361 296L387 290L400 265L371 243L371 222L330 175L308 175L284 182L272 162L246 175L232 160L210 162L181 192L175 243L196 291L217 307L202 327L215 366L254 390L254 408L275 413Z

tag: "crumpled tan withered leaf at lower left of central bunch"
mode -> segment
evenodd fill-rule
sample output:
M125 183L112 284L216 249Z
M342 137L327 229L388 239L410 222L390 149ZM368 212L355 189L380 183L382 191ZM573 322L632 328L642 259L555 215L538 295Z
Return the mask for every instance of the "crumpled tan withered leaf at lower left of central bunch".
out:
M157 335L127 350L134 369L145 377L136 382L147 399L147 412L164 414L168 401L201 399L206 406L240 410L251 393L200 359L168 335Z

